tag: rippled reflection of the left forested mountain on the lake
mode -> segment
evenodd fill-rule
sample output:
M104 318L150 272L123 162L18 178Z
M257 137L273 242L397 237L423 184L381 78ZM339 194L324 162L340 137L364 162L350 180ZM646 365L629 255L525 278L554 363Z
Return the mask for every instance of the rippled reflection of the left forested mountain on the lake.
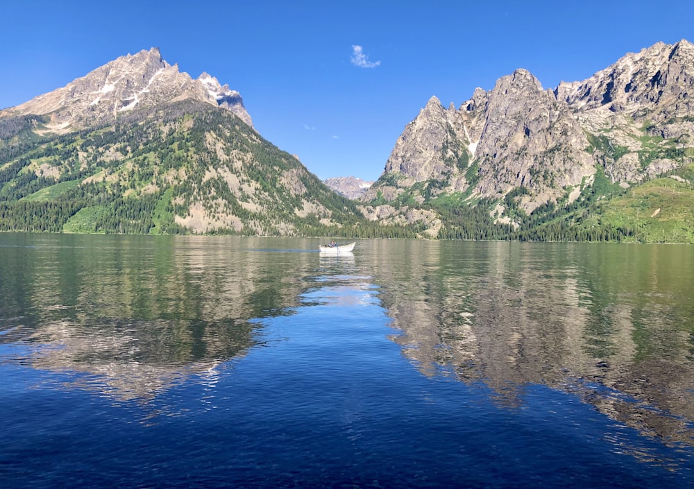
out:
M10 238L32 244L0 255L0 345L23 345L3 361L144 404L261 345L256 319L293 314L317 259L252 239Z

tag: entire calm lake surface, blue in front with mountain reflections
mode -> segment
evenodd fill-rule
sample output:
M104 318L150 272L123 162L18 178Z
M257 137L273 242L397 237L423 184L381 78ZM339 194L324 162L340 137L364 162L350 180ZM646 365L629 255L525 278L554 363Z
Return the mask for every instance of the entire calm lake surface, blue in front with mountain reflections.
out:
M0 486L694 486L694 247L320 242L0 234Z

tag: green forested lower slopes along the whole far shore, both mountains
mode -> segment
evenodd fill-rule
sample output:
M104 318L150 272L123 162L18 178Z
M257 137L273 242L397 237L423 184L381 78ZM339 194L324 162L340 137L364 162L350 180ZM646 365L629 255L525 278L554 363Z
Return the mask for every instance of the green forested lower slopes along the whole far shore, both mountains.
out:
M523 187L475 199L439 194L436 181L369 203L430 212L440 221L432 236L428 221L366 220L295 157L209 105L183 101L58 136L43 124L0 119L2 231L694 242L691 165L627 190L598 168L572 203L532 214L518 206ZM511 223L494 222L497 205Z

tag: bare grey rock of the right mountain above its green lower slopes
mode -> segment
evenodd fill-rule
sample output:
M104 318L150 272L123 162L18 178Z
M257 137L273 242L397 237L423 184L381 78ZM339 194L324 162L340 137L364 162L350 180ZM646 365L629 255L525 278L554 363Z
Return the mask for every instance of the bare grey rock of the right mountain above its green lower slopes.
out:
M682 166L694 147L694 46L629 53L587 80L543 89L518 69L457 110L432 97L396 141L364 200L408 193L516 199L526 212L570 202L596 172L634 185Z

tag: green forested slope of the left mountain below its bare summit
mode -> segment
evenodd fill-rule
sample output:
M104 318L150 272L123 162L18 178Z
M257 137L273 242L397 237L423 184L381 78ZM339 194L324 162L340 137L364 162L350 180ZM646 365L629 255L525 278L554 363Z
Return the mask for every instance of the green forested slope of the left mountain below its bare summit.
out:
M58 137L41 124L0 123L0 230L389 233L225 110L182 102Z

